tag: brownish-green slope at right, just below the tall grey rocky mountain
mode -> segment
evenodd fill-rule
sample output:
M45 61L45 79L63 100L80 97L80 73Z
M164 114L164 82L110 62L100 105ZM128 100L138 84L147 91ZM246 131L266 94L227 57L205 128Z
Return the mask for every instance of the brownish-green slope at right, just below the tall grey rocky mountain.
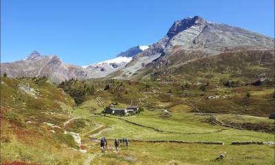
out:
M274 50L224 52L168 67L148 66L147 73L164 80L190 80L193 83L221 84L226 80L252 83L261 78L274 78Z

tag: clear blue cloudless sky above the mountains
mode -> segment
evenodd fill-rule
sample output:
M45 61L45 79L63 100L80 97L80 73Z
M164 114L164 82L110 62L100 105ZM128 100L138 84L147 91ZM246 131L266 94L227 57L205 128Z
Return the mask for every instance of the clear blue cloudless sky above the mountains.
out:
M65 63L97 63L162 38L198 15L274 38L274 0L1 0L1 63L33 50Z

